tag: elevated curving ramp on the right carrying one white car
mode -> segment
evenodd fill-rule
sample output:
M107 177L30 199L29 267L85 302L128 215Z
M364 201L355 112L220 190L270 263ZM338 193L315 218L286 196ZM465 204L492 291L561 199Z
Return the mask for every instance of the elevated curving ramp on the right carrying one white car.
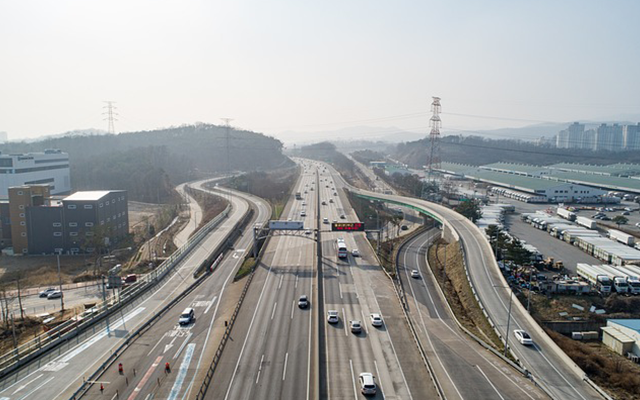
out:
M451 209L424 200L384 195L356 188L350 190L370 198L429 210L445 221L460 235L471 280L490 318L503 336L508 334L509 344L515 356L531 372L536 382L543 385L556 398L601 398L583 380L579 368L553 343L518 301L513 302L509 332L507 332L510 289L497 267L489 243L471 221ZM529 332L533 337L534 346L525 347L516 342L512 333L514 329L524 329Z

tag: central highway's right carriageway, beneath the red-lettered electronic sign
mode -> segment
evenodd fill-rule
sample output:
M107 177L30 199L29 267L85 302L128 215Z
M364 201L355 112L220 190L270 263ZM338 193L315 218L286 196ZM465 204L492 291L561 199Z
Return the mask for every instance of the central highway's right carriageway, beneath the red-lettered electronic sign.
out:
M335 172L327 168L320 175L321 217L328 221L358 221L342 190L336 186ZM336 190L337 189L337 190ZM334 203L330 203L333 199ZM344 215L344 219L341 216ZM361 398L357 379L372 373L379 385L376 398L436 398L435 386L410 336L391 281L382 272L364 233L322 233L324 310L339 313L337 324L325 323L327 398ZM348 250L361 256L339 259L335 243L342 237ZM381 314L383 325L371 325L370 314ZM363 331L351 333L349 321L359 320Z

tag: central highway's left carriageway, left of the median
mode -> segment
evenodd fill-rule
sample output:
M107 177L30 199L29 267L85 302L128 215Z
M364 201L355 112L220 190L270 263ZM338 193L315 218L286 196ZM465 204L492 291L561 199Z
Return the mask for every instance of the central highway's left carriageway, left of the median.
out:
M268 242L213 376L209 399L313 398L315 179L311 168L302 173L294 191L302 192L303 200L290 201L281 216L304 221L308 234L289 231ZM306 216L301 216L303 210ZM298 307L302 295L310 299L306 309Z

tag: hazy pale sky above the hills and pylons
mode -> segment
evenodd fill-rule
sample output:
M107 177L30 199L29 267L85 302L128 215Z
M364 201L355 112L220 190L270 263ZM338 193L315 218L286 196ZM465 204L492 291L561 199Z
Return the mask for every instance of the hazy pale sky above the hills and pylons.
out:
M0 0L10 140L206 122L307 141L640 114L640 1ZM363 137L366 138L364 133ZM345 138L348 139L348 138Z

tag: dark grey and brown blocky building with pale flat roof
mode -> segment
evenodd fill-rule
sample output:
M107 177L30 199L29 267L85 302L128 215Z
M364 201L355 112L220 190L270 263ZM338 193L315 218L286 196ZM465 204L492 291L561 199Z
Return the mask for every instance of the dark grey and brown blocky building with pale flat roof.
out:
M9 201L0 203L0 221L0 244L11 246L13 254L92 253L97 241L108 247L128 235L127 192L54 198L48 185L12 187Z

